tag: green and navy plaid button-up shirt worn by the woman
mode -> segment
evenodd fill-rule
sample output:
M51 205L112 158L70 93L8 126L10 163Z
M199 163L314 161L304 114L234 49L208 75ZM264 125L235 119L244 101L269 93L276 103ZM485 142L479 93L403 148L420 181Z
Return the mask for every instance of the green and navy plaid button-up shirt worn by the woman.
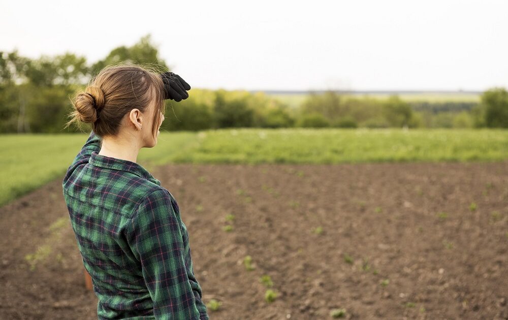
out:
M62 181L99 319L209 319L175 198L101 141L90 133Z

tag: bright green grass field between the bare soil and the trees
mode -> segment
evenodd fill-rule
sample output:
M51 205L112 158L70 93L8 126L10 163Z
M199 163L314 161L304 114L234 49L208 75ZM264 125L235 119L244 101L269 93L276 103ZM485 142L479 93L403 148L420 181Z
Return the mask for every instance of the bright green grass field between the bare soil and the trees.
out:
M62 178L88 134L1 135L0 204ZM224 129L162 132L138 162L310 163L503 161L506 130Z

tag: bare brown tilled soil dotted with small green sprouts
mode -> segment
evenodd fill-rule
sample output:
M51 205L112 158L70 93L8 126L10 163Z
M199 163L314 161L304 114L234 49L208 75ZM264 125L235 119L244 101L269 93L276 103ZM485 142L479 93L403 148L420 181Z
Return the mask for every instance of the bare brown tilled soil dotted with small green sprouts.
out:
M205 303L223 303L212 319L508 317L508 162L152 173L179 203ZM97 318L83 270L61 179L0 208L0 318Z

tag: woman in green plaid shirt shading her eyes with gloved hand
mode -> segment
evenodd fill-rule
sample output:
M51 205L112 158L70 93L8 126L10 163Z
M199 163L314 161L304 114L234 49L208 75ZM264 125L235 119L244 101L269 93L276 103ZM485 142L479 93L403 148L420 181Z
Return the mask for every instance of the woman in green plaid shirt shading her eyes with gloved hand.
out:
M100 319L209 319L178 204L136 163L157 144L165 100L186 99L189 89L173 73L113 65L72 99L67 126L87 122L92 132L63 196Z

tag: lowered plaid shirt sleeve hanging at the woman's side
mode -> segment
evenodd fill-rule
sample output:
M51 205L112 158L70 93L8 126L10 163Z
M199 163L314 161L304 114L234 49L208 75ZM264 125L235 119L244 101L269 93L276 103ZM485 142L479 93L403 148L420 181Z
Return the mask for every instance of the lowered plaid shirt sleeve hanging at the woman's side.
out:
M198 309L189 282L180 216L169 192L160 189L148 195L133 214L128 229L129 244L141 262L155 317L208 320L206 307Z

